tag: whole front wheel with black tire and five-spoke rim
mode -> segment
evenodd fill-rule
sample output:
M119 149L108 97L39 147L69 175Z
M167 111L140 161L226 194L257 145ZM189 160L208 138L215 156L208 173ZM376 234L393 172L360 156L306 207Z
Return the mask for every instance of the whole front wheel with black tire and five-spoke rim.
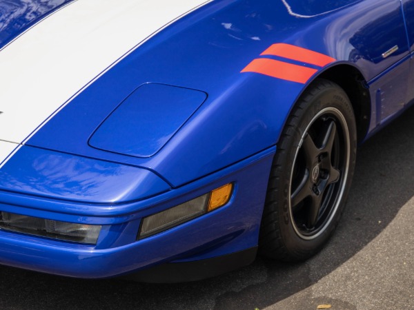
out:
M316 80L293 108L270 172L259 236L264 256L306 260L331 236L355 167L355 116L337 84Z

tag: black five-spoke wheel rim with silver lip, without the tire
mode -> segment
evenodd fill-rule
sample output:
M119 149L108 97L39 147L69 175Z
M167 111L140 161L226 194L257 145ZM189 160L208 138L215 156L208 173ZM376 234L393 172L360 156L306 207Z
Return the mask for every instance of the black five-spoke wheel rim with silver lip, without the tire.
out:
M332 220L344 193L349 158L345 118L327 107L306 128L293 163L290 216L301 238L317 237Z

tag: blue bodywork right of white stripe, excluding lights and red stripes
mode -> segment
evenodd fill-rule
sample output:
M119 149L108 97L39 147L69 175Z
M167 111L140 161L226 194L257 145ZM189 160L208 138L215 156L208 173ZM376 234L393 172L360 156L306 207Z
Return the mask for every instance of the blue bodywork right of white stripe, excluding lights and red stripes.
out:
M0 169L1 211L104 225L97 247L0 231L0 262L94 278L254 247L275 145L313 79L338 65L358 70L372 99L368 134L414 98L406 83L414 81L413 12L413 0L219 0L179 19L83 90ZM274 43L337 61L310 66L317 73L305 84L240 73ZM154 97L150 88L160 84L175 87ZM152 122L142 126L147 107ZM141 218L229 182L236 190L228 206L135 241Z

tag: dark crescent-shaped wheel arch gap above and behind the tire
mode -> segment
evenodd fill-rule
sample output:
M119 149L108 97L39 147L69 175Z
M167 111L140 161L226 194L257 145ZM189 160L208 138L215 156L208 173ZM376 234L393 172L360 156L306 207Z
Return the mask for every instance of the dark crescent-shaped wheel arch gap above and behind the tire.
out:
M346 92L355 114L357 141L361 143L368 133L371 121L371 95L364 76L353 65L339 64L317 77L337 83Z

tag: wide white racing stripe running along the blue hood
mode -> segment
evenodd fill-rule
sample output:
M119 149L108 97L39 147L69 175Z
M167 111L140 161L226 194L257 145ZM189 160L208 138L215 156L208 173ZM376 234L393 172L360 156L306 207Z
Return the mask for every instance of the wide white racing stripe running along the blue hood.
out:
M208 2L79 0L51 14L0 51L0 139L23 143L140 42Z

